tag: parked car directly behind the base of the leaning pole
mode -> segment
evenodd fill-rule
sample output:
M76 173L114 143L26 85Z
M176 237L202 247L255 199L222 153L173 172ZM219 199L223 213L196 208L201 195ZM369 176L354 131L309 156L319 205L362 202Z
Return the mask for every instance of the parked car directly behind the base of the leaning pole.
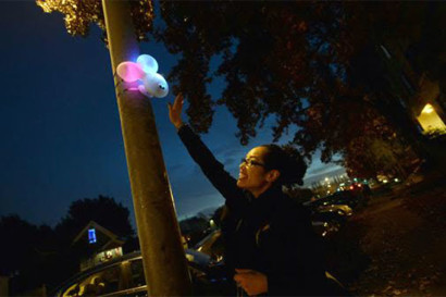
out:
M214 265L202 252L187 249L194 295L222 295L227 280L222 268ZM83 271L54 290L52 296L147 296L147 285L140 251Z

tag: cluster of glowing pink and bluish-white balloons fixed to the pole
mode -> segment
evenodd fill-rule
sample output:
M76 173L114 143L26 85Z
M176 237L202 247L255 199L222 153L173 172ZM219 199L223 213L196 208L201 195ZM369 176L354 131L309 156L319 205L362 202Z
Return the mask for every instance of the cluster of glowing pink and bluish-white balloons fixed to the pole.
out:
M116 67L117 75L126 83L138 82L138 89L148 97L163 98L169 94L164 77L157 73L158 62L149 54L141 54L136 62L122 62Z

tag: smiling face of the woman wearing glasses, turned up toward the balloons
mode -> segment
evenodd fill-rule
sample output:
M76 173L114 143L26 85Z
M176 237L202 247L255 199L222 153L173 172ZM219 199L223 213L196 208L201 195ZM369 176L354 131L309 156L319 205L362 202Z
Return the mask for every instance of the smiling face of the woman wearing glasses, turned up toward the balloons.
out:
M267 153L267 150L265 147L251 149L239 166L237 186L249 190L256 197L268 189L272 184L269 171L264 168L263 161L263 156Z

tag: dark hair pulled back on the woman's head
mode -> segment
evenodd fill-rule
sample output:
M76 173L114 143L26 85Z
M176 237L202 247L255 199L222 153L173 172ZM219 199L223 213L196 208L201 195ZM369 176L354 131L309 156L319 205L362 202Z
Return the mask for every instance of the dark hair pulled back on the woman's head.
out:
M277 170L281 176L276 184L290 186L294 184L302 185L303 175L307 171L307 164L296 149L292 147L280 147L277 145L263 145L267 153L263 156L263 162L267 170Z

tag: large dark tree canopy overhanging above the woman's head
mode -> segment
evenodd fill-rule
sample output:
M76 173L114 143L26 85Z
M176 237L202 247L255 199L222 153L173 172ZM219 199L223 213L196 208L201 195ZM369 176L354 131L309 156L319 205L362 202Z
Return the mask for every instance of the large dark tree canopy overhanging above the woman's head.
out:
M407 95L400 74L399 83L392 77L382 45L417 49L418 71L438 78L444 63L432 61L444 60L446 39L425 34L445 35L444 10L428 2L225 1L197 8L163 1L165 26L156 36L182 54L170 79L174 91L186 95L196 131L207 132L215 106L225 106L247 144L274 116L275 139L295 126L293 144L307 158L318 148L325 162L342 153L345 165L370 175L383 164L377 151L396 162L401 146L417 150L420 141L411 110L400 104ZM215 77L226 83L221 98L209 95ZM359 151L358 144L375 149ZM372 164L367 170L354 165L364 154Z

